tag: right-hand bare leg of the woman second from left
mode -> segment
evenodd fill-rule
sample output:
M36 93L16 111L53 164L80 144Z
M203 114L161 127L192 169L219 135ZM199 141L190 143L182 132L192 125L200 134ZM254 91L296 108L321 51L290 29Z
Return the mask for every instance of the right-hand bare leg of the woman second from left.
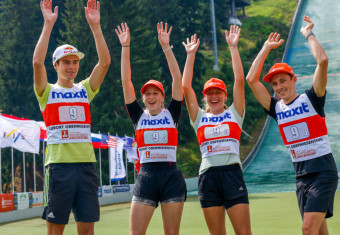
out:
M178 235L184 202L162 203L164 235Z

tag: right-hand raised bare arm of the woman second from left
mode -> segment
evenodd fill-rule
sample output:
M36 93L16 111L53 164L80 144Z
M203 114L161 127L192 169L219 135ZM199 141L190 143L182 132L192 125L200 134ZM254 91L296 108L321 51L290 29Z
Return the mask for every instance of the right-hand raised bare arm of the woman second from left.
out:
M168 31L167 23L165 23L165 27L163 27L163 22L157 24L158 41L159 44L161 44L162 46L172 76L172 98L178 101L182 101L182 74L181 70L179 69L176 57L172 51L172 46L170 47L171 31L172 26L169 28Z

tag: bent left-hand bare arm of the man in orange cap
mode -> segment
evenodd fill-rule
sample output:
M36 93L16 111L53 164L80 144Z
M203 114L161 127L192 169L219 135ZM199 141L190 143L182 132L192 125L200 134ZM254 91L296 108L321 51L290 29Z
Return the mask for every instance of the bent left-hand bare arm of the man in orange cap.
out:
M271 96L259 79L264 61L266 60L270 50L279 47L283 42L284 40L280 39L280 34L276 32L271 33L251 65L246 78L247 83L252 89L256 99L267 111L270 109Z

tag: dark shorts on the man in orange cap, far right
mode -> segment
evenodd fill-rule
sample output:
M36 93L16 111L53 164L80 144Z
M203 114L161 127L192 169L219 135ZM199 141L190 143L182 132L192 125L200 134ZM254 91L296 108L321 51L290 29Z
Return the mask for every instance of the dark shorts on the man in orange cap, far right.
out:
M296 196L302 218L305 212L326 212L326 218L332 217L337 186L338 172L335 171L297 177Z

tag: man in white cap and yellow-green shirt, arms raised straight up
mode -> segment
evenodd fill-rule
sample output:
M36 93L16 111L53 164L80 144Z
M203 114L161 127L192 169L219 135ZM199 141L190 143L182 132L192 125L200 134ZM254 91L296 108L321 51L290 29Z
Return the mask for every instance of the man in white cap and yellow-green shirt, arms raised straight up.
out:
M34 91L47 128L44 212L47 234L63 234L73 211L78 234L94 234L99 220L96 161L91 143L89 103L98 93L111 63L100 26L100 4L88 0L86 20L91 28L99 61L91 75L75 84L84 54L62 45L53 53L56 84L47 82L44 65L48 42L58 17L52 0L40 2L44 26L33 55Z

